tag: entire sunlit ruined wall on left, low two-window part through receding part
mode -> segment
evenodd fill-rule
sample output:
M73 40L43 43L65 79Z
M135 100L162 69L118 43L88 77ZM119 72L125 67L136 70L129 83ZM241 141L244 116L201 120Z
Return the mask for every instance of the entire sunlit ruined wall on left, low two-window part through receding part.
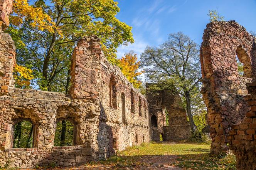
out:
M7 43L3 44L3 51L15 49L11 39L4 42ZM4 53L2 58L6 59L5 66L15 63L14 54L10 58L9 53ZM13 88L12 68L4 67L3 71L10 74L2 76L9 81L5 84L7 90L0 94L1 166L9 159L12 167L20 168L76 165L105 159L128 146L150 141L147 100L119 68L108 63L96 37L77 43L72 56L72 86L68 96ZM135 99L134 114L130 113L131 91ZM115 106L110 104L113 97ZM59 119L74 123L74 146L54 147ZM29 120L34 126L33 148L12 147L14 124L20 120Z

